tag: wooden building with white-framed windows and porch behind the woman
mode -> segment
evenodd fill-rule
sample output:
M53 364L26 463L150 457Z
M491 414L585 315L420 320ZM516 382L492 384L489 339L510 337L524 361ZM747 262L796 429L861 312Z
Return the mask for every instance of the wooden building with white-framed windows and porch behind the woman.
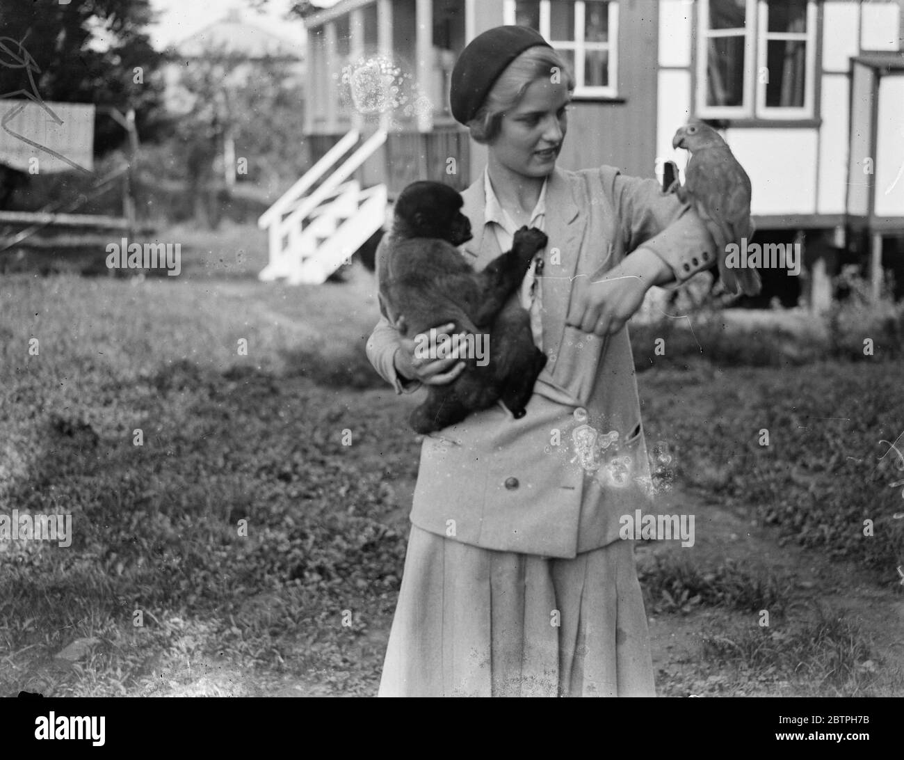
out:
M675 130L691 118L711 120L749 172L761 233L824 235L843 246L853 225L873 235L881 261L875 235L904 233L904 177L893 183L904 166L902 5L339 0L306 18L305 134L317 157L351 129L362 140L382 130L355 176L363 187L384 183L390 198L415 179L464 188L485 165L485 147L449 114L449 72L476 34L528 25L577 80L559 166L609 164L661 177L664 161L686 163L672 148ZM342 72L373 56L410 73L429 108L379 118L357 109Z

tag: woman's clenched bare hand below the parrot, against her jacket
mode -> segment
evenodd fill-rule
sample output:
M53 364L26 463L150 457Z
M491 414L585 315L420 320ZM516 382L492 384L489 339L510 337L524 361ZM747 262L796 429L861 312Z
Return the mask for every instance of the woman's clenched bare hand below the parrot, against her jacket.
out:
M637 249L601 277L575 283L565 324L598 337L614 335L640 309L646 291L670 276L668 265L654 252Z

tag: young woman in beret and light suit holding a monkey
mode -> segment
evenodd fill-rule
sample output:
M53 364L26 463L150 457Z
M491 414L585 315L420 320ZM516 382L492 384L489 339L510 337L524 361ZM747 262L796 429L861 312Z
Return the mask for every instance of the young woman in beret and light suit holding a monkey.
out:
M479 271L523 224L549 235L515 296L549 362L523 418L494 407L425 437L381 696L654 695L619 537L651 490L625 325L652 285L711 266L714 245L654 180L556 168L573 86L518 26L480 34L452 74L453 115L488 147L462 194L463 255ZM385 318L368 342L397 393L464 368L414 347Z

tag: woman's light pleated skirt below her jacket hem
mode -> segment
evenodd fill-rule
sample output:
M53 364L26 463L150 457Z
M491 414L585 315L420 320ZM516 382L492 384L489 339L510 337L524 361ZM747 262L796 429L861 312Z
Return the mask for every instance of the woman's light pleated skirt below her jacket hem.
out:
M655 696L633 547L546 558L412 526L379 696Z

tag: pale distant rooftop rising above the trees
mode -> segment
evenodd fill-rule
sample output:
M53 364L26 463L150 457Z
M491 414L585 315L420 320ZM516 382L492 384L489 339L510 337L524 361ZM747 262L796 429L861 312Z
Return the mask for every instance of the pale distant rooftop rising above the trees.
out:
M297 44L243 20L237 10L231 10L220 21L208 24L181 43L175 43L173 49L187 58L203 58L212 50L249 59L269 56L300 60L304 57Z

